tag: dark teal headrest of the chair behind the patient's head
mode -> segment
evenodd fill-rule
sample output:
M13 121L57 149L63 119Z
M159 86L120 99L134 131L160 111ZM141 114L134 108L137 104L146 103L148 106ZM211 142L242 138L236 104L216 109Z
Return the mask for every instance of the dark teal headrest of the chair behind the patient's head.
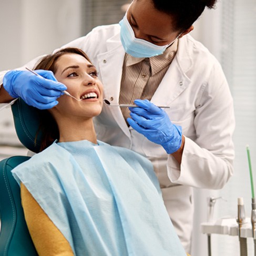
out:
M21 98L18 98L12 105L17 136L27 149L35 153L39 152L42 140L42 132L38 132L36 138L40 124L39 111L37 108L28 106Z

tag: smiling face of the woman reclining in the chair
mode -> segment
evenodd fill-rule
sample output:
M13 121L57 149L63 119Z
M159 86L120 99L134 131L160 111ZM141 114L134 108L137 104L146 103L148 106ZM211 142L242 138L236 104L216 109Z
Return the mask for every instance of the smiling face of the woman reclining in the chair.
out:
M67 86L67 95L61 96L56 109L60 114L74 117L94 117L100 114L103 105L103 85L97 70L86 58L78 54L65 54L56 61L56 79Z

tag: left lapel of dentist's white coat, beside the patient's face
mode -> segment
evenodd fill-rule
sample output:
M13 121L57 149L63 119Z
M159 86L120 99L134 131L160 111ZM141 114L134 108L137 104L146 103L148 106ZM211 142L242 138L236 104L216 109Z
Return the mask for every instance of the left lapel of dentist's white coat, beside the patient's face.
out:
M125 57L125 50L121 45L119 34L107 41L107 49L106 53L97 56L99 73L104 86L104 98L108 99L111 104L118 104L122 65ZM130 131L119 107L108 107L104 104L103 114L114 117L122 131L131 138Z

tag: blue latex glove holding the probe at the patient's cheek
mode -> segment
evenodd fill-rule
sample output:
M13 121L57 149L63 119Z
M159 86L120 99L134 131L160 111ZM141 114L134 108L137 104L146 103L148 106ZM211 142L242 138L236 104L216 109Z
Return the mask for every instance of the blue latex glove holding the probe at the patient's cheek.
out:
M63 95L67 87L59 83L52 71L36 70L40 76L30 71L8 71L3 80L3 86L13 98L21 97L26 104L48 109L58 104L57 98Z

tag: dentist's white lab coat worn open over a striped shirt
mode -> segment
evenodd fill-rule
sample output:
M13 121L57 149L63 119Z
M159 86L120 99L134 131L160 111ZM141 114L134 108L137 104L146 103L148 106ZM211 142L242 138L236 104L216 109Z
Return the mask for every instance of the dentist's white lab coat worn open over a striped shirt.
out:
M88 54L103 81L104 97L112 99L112 104L118 104L125 56L119 31L118 24L100 26L64 46L78 47ZM32 68L32 64L27 66ZM176 57L151 102L170 106L165 109L170 120L182 127L186 138L181 165L161 146L128 128L118 107L104 106L95 118L97 136L152 161L169 215L189 251L193 219L191 187L220 189L233 173L232 97L216 58L186 35L179 39Z

